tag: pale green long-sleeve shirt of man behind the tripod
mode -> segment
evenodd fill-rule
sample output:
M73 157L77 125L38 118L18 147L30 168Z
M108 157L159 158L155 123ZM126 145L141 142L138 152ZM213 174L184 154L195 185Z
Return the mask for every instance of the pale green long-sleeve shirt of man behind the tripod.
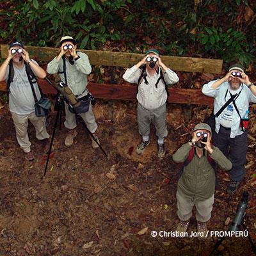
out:
M66 73L67 73L67 85L74 95L79 95L84 92L88 84L87 75L92 72L92 67L88 56L83 52L77 52L80 58L75 61L74 65L70 64L66 59ZM61 80L65 83L65 77L63 72L63 60L56 60L56 57L48 63L46 71L49 74L56 74L60 72Z

